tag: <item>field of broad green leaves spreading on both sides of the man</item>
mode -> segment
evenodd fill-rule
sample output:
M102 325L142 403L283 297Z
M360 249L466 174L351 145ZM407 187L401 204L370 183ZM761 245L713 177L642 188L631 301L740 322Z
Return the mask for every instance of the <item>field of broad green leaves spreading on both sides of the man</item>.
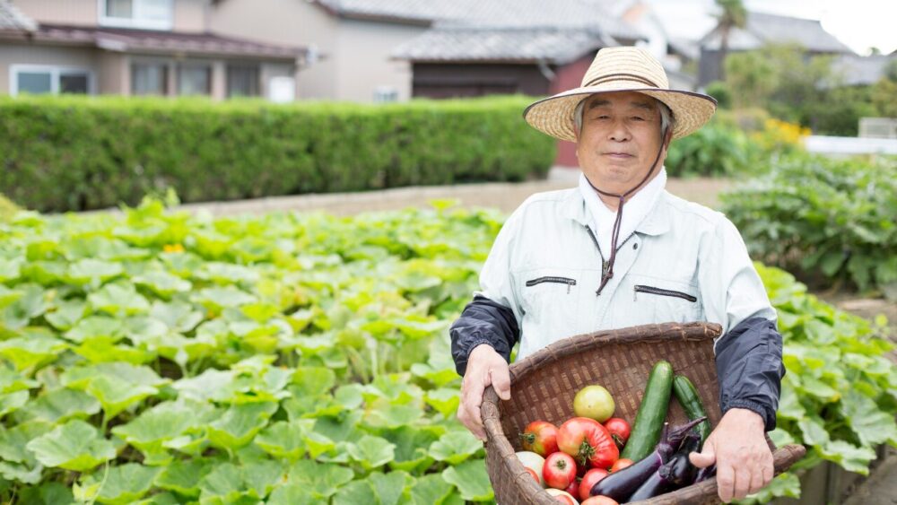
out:
M440 202L353 218L191 217L156 200L19 213L0 224L0 497L492 501L482 445L454 418L446 329L502 220ZM774 440L864 471L875 444L897 444L890 344L762 275L788 339Z

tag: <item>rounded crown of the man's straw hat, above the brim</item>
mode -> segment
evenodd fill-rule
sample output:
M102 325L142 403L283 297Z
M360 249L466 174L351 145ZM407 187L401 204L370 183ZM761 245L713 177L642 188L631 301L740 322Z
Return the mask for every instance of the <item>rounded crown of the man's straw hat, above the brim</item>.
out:
M595 55L582 78L581 87L639 87L669 89L664 66L643 48L603 48Z

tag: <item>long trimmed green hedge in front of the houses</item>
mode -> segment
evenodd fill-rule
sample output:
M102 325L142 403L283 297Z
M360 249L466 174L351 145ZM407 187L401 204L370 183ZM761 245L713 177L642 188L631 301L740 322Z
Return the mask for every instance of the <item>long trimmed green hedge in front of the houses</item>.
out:
M523 96L364 105L0 98L0 192L42 212L542 177Z

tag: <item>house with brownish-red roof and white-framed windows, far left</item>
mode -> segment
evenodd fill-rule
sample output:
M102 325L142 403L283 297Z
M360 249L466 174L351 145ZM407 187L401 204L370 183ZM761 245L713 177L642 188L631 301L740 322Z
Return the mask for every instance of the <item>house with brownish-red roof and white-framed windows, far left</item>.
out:
M308 51L211 30L213 0L0 0L0 93L292 100Z

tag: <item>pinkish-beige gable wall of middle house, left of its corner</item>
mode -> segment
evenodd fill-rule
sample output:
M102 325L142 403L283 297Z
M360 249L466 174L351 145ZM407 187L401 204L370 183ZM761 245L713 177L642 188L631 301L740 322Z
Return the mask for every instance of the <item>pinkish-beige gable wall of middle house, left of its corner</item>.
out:
M213 9L210 20L211 30L222 35L286 46L316 45L329 55L336 46L335 18L304 0L228 0ZM335 73L333 59L300 69L296 96L335 99Z

